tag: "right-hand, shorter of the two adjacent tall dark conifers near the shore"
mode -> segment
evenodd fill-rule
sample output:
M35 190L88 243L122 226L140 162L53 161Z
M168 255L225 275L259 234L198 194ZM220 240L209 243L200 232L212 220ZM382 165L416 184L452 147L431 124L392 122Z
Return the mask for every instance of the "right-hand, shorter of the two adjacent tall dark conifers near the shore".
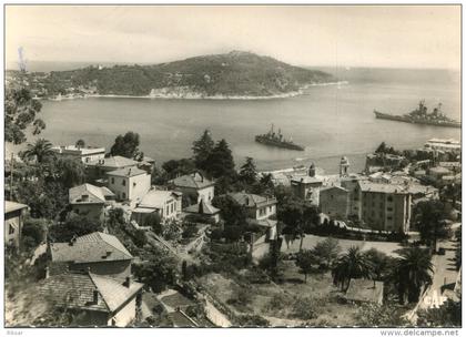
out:
M232 151L225 140L221 140L215 144L207 157L209 166L206 172L217 177L234 177L236 172L234 171L234 161Z

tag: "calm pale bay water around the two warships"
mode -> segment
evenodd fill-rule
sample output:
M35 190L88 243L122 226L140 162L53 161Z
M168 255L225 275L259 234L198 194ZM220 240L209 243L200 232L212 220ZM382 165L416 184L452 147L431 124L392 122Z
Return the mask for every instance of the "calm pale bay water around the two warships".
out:
M350 171L361 172L365 156L381 142L395 149L418 149L433 137L460 140L460 129L416 125L375 119L374 109L404 114L425 100L429 111L460 120L460 73L448 70L320 68L343 84L311 86L302 95L269 100L182 100L88 98L43 101L47 129L40 135L54 144L110 150L114 139L138 132L141 151L159 164L190 157L192 143L205 129L225 139L236 167L246 156L260 171L314 163L327 174L338 171L342 156ZM271 125L305 151L270 147L254 141Z

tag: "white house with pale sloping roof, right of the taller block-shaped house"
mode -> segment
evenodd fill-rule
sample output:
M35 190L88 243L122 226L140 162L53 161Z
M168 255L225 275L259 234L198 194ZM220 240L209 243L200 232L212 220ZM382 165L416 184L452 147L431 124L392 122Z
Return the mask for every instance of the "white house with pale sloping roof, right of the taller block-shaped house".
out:
M144 225L145 218L155 212L163 222L175 219L181 214L181 203L182 194L180 192L151 190L136 204L131 218L138 224Z

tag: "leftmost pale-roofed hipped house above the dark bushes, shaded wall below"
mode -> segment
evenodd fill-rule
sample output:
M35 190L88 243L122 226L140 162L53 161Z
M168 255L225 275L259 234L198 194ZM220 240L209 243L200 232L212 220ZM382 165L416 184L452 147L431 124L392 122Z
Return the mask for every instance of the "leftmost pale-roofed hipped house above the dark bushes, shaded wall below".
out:
M103 221L105 207L115 198L113 192L107 187L82 184L69 190L71 210L91 219Z

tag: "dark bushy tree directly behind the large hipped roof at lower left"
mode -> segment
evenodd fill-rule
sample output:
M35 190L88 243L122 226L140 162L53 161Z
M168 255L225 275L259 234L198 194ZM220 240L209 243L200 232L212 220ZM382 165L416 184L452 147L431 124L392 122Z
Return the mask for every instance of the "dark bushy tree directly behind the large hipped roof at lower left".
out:
M50 227L49 236L53 242L69 242L74 236L102 231L103 227L100 223L91 221L87 216L71 213L63 224Z

